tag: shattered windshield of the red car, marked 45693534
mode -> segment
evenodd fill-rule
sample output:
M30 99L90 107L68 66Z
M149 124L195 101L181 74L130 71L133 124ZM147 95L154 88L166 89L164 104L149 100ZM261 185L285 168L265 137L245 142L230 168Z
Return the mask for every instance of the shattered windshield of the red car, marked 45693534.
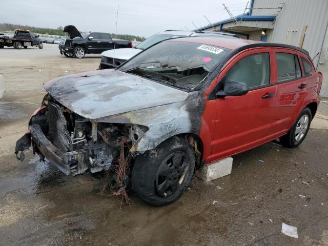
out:
M192 89L206 78L229 50L178 40L161 42L118 68L181 89Z

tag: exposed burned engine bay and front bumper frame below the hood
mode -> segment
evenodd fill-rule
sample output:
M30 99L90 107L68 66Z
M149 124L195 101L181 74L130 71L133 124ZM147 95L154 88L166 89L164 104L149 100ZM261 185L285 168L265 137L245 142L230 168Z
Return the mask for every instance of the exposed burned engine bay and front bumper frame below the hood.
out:
M147 127L133 124L92 122L50 95L46 95L43 106L47 107L30 121L33 153L44 160L47 147L47 158L67 175L117 169L120 161L130 158L129 150L140 133L147 131Z

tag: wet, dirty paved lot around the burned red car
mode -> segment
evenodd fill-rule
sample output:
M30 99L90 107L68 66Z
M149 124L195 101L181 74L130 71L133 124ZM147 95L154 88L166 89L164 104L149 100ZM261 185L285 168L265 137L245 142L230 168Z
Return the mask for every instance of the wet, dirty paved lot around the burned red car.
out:
M328 245L326 104L299 148L270 143L236 155L231 175L195 179L167 207L131 192L131 206L120 208L115 197L100 197L101 180L90 174L67 177L31 151L18 162L15 141L45 94L42 84L96 69L99 60L66 58L47 44L0 50L0 245ZM297 227L298 239L281 233L282 222Z

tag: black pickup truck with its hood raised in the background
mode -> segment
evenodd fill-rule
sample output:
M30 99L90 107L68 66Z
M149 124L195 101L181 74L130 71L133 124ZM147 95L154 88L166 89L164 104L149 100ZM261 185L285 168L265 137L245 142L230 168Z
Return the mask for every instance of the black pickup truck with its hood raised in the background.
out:
M80 33L75 26L66 26L64 32L70 38L63 38L59 44L60 54L66 57L83 58L85 54L99 54L117 48L132 48L129 40L113 39L111 34L104 32Z

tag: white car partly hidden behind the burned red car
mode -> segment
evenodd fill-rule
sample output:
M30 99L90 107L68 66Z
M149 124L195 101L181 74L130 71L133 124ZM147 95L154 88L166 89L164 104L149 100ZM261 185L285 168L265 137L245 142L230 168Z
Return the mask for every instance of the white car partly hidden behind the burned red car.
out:
M210 31L172 31L166 30L164 32L156 33L155 35L147 38L134 48L112 49L101 53L101 61L99 69L117 68L126 60L140 53L152 45L159 43L163 40L177 37L227 37L239 38L237 35L227 32L210 32Z

